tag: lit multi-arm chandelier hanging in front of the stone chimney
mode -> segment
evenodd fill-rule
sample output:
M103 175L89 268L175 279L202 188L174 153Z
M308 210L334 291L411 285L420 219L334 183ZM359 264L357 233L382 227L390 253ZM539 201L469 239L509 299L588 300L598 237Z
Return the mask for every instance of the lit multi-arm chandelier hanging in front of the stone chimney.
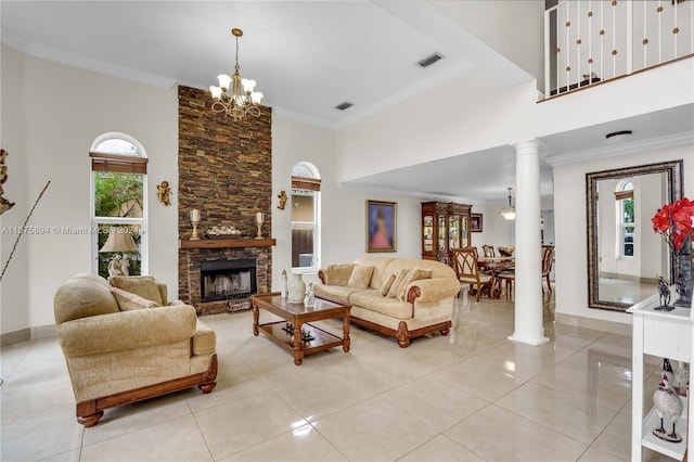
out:
M224 113L224 116L232 116L234 120L242 120L247 115L258 117L260 115L260 100L262 93L254 91L256 81L242 79L239 74L239 37L243 36L243 30L233 28L231 34L236 37L236 67L234 75L220 74L217 76L219 86L210 86L213 93L213 112ZM243 86L243 92L241 87Z

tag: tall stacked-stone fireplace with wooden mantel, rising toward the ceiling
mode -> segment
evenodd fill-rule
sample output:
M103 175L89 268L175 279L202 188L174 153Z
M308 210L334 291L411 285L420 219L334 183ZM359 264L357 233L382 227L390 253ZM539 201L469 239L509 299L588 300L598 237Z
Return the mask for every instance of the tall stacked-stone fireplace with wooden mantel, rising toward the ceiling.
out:
M178 97L178 296L198 315L247 309L250 294L271 290L274 240L255 239L256 213L265 213L262 235L272 229L271 110L234 121L209 110L206 91L179 87ZM190 240L194 208L202 216L200 241ZM241 234L206 239L214 226ZM248 282L247 292L234 288Z

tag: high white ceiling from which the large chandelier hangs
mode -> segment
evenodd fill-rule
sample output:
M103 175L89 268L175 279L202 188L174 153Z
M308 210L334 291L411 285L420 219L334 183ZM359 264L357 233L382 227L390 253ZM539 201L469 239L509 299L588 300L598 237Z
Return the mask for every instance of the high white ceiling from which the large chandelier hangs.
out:
M0 8L5 43L163 87L206 89L218 74L232 74L231 28L239 27L241 74L258 81L264 104L329 127L474 66L465 56L471 37L422 1L2 1ZM445 59L416 64L434 52ZM335 110L344 101L355 106Z

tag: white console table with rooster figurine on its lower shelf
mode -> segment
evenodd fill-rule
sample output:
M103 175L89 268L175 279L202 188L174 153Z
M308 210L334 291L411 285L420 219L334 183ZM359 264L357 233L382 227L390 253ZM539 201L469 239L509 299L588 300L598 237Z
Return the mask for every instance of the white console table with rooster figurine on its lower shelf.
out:
M673 293L673 287L670 287ZM676 295L673 293L673 295ZM676 298L676 297L673 297ZM687 425L687 416L694 415L692 400L682 397L684 412L678 422L681 442L668 442L653 435L653 428L660 424L654 408L643 418L643 355L653 355L670 360L685 361L694 359L694 318L691 308L674 308L672 311L655 311L659 305L658 294L629 308L633 315L633 347L631 378L631 460L641 461L642 447L666 454L679 461L694 454L694 425ZM651 403L651 397L645 397Z

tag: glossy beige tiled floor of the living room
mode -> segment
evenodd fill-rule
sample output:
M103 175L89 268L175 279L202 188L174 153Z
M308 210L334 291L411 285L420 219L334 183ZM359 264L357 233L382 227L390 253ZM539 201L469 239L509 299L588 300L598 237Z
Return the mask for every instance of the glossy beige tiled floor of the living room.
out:
M512 303L471 301L457 303L448 337L401 349L352 328L350 352L300 367L252 335L250 312L207 317L220 364L211 394L115 408L92 428L75 421L55 338L5 347L1 460L630 460L630 337L554 324L548 296L552 342L515 344ZM648 396L658 359L646 368Z

